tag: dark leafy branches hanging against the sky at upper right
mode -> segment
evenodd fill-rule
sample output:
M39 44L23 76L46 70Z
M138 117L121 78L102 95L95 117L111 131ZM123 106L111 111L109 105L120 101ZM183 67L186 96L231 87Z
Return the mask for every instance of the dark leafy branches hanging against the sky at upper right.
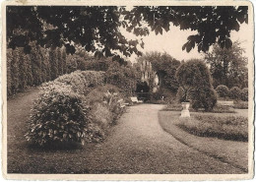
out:
M168 7L168 6L138 6L131 11L124 11L128 31L135 34L148 34L142 27L142 20L156 32L161 34L168 31L170 23L180 30L197 30L196 34L188 36L188 41L182 49L189 52L195 45L198 51L206 52L209 47L218 42L222 48L230 48L230 31L238 31L239 24L248 23L248 7L231 6L194 6L194 7ZM228 16L226 16L228 15Z

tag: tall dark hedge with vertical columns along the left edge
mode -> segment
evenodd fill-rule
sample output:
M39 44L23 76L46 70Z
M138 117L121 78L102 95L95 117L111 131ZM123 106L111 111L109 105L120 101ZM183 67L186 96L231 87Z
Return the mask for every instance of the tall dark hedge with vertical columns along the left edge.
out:
M25 54L23 48L8 49L7 96L66 74L66 59L64 48L43 48L32 44L30 54Z

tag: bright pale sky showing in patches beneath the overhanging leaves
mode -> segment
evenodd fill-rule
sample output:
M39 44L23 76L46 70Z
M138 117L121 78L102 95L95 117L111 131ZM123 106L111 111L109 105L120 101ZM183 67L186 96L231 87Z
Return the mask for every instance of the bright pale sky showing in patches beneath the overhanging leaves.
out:
M231 31L231 39L235 41L239 39L242 43L241 46L245 48L246 53L245 56L249 57L248 49L248 40L252 35L251 29L248 28L249 26L246 24L242 24L239 31ZM129 39L138 38L133 33L125 32L122 30L125 36ZM160 51L160 52L167 52L172 57L178 60L188 60L191 58L202 58L202 53L197 51L197 47L192 49L189 53L185 50L182 51L182 45L187 41L187 37L191 34L195 34L196 31L191 30L179 30L179 27L171 26L168 32L163 30L162 34L156 35L155 32L151 32L148 36L143 36L145 47L141 51L146 53L147 51ZM130 60L135 62L136 55L132 55Z

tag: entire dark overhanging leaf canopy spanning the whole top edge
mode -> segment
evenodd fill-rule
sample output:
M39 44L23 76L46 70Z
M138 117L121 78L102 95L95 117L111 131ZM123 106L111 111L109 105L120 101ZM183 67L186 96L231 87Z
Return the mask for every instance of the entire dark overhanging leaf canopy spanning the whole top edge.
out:
M182 49L188 52L198 46L207 51L218 42L221 47L232 45L230 31L248 23L247 6L139 6L127 11L116 6L7 6L8 47L24 47L30 52L31 41L41 46L65 45L74 53L75 45L92 51L96 56L119 59L132 53L141 55L138 45L143 41L127 40L120 27L136 35L168 31L170 24L180 30L197 30L188 36Z

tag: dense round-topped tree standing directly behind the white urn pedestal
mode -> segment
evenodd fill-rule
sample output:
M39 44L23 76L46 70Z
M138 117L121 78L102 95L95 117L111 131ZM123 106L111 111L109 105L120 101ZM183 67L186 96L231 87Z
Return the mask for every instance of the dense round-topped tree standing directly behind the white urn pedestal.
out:
M192 59L181 64L177 69L176 79L180 86L179 91L182 91L178 91L178 95L181 95L184 101L191 99L192 107L196 110L213 109L217 98L210 71L202 60Z

